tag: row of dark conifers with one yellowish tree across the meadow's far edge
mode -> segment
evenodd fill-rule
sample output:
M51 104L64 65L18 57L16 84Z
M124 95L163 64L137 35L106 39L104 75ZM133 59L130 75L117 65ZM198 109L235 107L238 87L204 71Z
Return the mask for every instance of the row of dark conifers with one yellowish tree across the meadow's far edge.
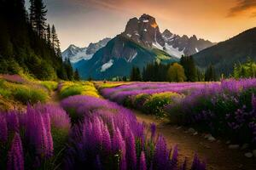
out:
M200 71L192 56L183 56L179 63L164 65L158 62L149 63L140 69L133 66L131 81L145 82L203 82L216 81L214 67L209 65L206 71Z

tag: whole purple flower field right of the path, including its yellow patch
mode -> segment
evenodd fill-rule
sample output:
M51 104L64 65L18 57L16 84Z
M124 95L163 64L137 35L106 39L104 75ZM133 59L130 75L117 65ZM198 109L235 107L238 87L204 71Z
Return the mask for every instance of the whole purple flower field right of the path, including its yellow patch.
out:
M235 144L256 142L256 79L222 82L134 82L101 88L104 97L148 114L168 116Z

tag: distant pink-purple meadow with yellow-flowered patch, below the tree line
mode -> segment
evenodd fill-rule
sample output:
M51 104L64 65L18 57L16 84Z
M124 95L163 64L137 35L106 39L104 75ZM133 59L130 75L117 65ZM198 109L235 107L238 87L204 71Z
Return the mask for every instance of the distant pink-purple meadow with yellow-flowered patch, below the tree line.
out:
M135 82L105 88L99 84L100 92L105 98L111 99L148 114L165 116L164 108L177 99L183 99L195 89L205 87L206 82Z

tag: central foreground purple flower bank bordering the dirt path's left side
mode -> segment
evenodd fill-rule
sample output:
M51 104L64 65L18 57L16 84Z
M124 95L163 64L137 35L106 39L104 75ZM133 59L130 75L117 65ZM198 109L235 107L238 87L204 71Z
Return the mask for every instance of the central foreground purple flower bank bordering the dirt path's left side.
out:
M177 160L177 146L167 148L154 124L137 122L124 107L106 99L71 96L61 101L66 111L79 114L70 133L65 169L186 169ZM179 162L179 163L178 163ZM191 169L206 169L195 155Z

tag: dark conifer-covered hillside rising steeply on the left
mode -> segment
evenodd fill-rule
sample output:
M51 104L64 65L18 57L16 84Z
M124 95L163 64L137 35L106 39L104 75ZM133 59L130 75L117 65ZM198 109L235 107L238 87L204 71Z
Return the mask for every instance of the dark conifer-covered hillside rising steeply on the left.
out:
M70 63L62 64L55 26L47 26L47 9L42 0L0 0L0 73L69 79Z

